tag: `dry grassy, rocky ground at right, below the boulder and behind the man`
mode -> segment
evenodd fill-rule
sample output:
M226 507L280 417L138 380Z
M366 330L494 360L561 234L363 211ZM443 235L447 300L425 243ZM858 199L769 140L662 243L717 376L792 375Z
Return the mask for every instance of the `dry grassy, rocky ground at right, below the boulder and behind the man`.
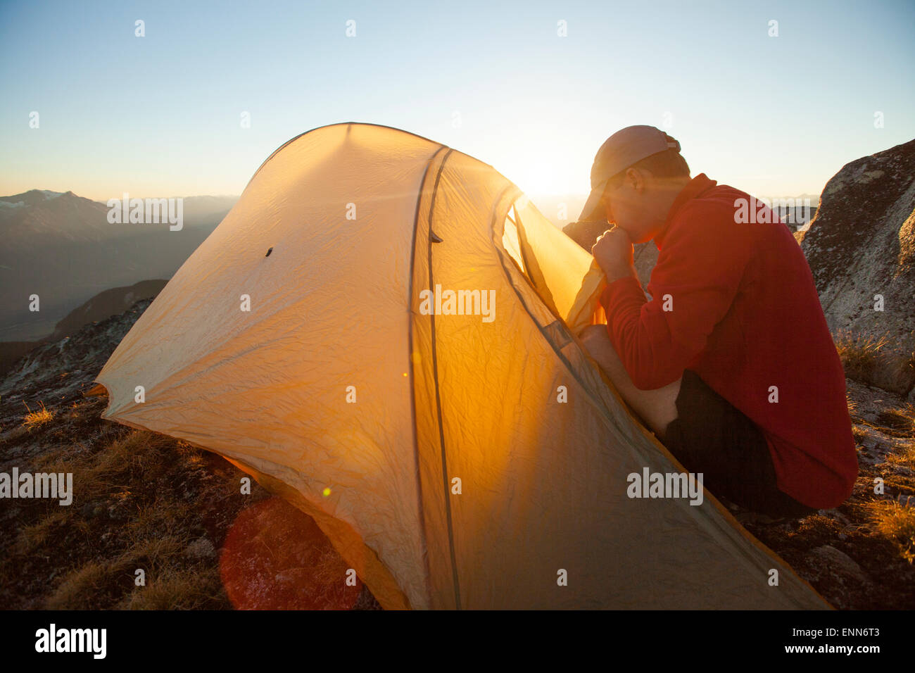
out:
M836 608L915 607L915 414L901 396L845 379L859 473L845 504L802 519L737 519ZM884 493L875 494L875 479Z

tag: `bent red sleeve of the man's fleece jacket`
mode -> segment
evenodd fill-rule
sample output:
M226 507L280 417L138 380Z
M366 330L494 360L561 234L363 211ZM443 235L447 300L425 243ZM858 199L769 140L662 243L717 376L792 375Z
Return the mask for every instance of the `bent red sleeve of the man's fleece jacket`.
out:
M610 342L640 390L676 381L731 308L751 252L727 208L686 204L664 234L645 298L635 277L601 293Z

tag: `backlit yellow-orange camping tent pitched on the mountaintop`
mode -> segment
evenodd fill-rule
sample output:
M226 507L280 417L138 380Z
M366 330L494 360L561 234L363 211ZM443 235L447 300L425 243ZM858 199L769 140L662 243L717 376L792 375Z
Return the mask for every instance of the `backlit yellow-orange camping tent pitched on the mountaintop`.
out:
M489 165L323 126L136 321L103 417L282 494L385 608L829 607L710 494L629 497L684 468L576 337L592 261Z

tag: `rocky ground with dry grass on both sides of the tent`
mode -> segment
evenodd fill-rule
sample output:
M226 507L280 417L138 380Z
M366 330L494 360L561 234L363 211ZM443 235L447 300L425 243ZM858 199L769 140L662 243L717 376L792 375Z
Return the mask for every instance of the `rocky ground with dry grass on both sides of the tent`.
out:
M0 506L0 609L378 609L364 586L339 581L345 564L309 517L257 483L241 494L229 462L100 418L106 399L85 393L149 303L40 346L0 382L0 472L75 481L69 507ZM911 609L915 414L903 397L847 384L852 498L801 520L735 514L834 606Z

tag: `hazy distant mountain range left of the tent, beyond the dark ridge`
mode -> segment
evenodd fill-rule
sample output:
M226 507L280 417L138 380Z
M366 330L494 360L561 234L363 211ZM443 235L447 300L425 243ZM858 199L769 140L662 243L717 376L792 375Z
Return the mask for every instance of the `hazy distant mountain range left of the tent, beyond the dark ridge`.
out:
M183 227L170 231L168 223L109 223L105 203L71 191L0 197L0 341L37 341L102 290L172 277L237 200L184 198Z

